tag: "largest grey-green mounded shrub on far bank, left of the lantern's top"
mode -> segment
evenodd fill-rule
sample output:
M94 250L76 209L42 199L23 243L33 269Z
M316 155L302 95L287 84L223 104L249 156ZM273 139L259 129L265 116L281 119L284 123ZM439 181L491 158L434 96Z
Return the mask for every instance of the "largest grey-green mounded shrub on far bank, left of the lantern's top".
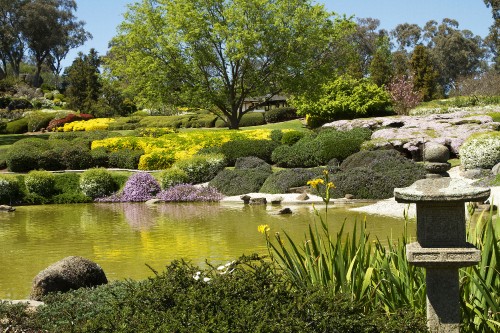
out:
M361 151L347 158L333 175L334 197L353 194L358 199L385 199L395 187L406 187L425 177L424 168L395 150Z

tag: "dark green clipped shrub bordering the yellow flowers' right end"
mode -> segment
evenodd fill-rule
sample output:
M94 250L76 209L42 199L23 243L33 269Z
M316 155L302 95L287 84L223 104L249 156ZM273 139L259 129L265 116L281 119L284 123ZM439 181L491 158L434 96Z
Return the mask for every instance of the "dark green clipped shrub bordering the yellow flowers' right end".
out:
M255 156L271 162L271 154L279 144L271 140L232 140L221 146L227 164L233 166L238 157Z

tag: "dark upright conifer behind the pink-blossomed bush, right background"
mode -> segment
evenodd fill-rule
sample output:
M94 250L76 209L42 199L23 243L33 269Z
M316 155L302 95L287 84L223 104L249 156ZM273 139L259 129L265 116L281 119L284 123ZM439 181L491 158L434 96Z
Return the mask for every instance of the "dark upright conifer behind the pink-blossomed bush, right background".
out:
M438 72L432 62L429 50L417 45L410 60L413 72L413 86L419 91L424 101L430 101L437 93Z

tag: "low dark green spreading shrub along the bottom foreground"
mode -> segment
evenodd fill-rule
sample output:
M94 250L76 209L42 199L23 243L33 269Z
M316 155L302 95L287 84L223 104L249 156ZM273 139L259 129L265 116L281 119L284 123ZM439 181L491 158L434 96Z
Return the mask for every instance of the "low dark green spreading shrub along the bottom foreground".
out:
M16 328L54 333L427 332L425 319L403 310L391 317L382 310L365 314L344 295L291 289L272 264L256 256L230 268L219 274L174 261L145 281L51 294L36 312L0 303L0 315Z

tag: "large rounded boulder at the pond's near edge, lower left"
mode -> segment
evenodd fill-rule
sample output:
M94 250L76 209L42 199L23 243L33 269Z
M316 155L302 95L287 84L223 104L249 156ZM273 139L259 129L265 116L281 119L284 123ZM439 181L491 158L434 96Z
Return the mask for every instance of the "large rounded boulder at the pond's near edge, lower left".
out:
M33 279L30 299L39 301L50 292L67 292L72 289L95 287L108 283L102 268L83 257L66 257Z

